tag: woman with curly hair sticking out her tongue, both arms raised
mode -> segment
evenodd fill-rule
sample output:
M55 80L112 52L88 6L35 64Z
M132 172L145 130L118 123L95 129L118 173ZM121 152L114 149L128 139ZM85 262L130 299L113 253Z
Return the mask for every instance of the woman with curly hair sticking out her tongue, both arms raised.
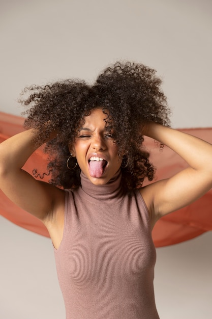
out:
M46 225L67 319L159 318L151 231L212 187L212 146L169 127L160 85L154 70L116 63L93 86L28 88L27 130L1 144L1 189ZM155 173L144 135L189 167L142 187ZM22 170L44 142L49 183Z

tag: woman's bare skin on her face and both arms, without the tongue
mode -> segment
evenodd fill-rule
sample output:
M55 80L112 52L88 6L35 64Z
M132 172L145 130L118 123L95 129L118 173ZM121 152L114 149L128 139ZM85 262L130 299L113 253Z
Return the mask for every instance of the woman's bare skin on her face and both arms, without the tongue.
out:
M79 128L75 143L69 146L83 173L96 185L107 183L120 168L117 146L105 130L104 118L101 109L93 110L84 118L84 128ZM15 204L46 225L54 247L58 248L63 238L65 192L35 180L22 169L38 147L34 143L36 135L38 130L29 129L0 144L0 188ZM140 189L154 226L160 217L190 204L212 188L212 145L156 123L145 125L145 135L173 149L189 165L169 179ZM89 175L88 159L94 154L107 161L100 178Z

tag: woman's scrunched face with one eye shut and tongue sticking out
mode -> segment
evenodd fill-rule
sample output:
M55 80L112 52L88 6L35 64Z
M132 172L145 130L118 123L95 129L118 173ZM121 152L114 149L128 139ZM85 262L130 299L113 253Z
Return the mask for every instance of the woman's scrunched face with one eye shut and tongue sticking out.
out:
M106 184L120 168L118 149L105 127L107 114L94 109L84 117L70 152L87 178L96 185Z

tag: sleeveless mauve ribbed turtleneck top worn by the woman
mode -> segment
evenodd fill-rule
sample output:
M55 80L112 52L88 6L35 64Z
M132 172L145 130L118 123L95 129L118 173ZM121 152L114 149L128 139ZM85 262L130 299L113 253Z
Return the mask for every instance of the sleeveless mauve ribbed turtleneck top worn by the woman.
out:
M158 319L156 250L145 203L109 183L66 192L62 243L55 252L67 319Z

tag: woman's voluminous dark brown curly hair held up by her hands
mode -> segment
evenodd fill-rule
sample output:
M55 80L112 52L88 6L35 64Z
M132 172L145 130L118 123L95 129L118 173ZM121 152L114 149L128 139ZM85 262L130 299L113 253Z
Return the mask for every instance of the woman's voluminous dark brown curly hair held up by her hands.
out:
M96 108L103 108L108 114L105 125L114 131L114 142L123 160L122 184L126 190L140 188L145 177L153 179L154 166L142 147L143 128L153 121L169 126L170 114L160 88L162 81L155 73L154 69L142 64L116 62L98 76L94 85L79 79L66 79L24 89L23 95L29 92L20 100L28 106L24 112L27 114L24 127L40 129L38 144L57 131L56 137L45 147L49 154L51 183L65 189L80 185L80 168L69 170L66 165L70 156L68 145L74 143L83 118ZM124 157L121 154L125 154ZM74 167L76 159L69 163Z

